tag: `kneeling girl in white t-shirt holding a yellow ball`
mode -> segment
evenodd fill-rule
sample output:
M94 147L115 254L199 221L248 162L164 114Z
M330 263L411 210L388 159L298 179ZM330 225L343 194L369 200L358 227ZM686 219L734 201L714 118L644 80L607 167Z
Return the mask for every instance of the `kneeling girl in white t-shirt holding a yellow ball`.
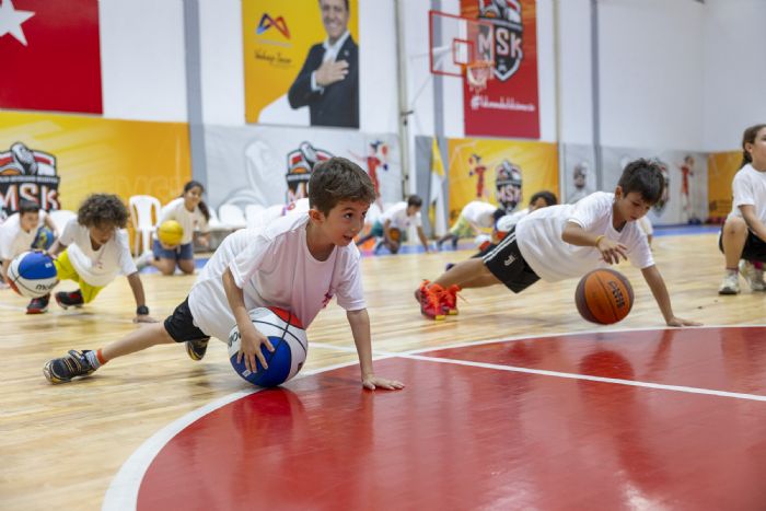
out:
M177 245L165 245L154 234L152 252L147 252L136 260L137 267L154 266L162 275L175 274L176 266L184 274L194 274L194 234L201 231L198 236L204 246L208 246L210 234L207 233L210 212L202 200L205 187L201 183L190 181L184 185L181 197L171 200L162 208L158 227L167 220L175 220L184 230L184 235Z

